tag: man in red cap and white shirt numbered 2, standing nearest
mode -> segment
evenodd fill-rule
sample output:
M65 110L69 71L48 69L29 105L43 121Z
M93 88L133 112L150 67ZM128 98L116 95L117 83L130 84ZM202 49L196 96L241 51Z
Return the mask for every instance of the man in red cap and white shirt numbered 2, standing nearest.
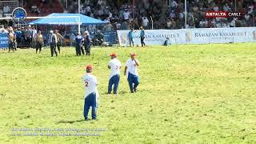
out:
M92 74L93 67L91 65L86 66L86 74L82 77L82 81L85 86L85 104L83 109L83 115L85 120L88 120L88 112L91 106L91 117L93 120L97 118L96 110L98 107L98 81Z

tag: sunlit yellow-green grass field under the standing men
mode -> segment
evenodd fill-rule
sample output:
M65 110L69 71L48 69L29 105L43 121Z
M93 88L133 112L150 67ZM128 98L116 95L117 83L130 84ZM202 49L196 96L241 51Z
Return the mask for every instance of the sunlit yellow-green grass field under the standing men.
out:
M111 52L122 62L122 74L129 53L138 54L137 93L130 94L121 75L118 95L106 94ZM49 49L0 50L0 143L256 142L255 43L92 48L90 57L74 53L66 47L50 58ZM99 82L97 121L83 121L86 64L93 64ZM21 128L49 128L50 134L78 128L100 136L22 136Z

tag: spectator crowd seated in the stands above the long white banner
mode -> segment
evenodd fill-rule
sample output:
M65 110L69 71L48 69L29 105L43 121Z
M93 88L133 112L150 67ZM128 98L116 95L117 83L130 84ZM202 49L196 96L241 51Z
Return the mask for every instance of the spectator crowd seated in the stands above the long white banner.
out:
M104 30L185 28L184 0L81 0L81 14L107 22ZM69 0L64 13L78 13L78 1ZM190 0L186 28L255 26L256 0ZM238 18L205 18L206 11L242 12ZM86 28L90 31L90 27Z

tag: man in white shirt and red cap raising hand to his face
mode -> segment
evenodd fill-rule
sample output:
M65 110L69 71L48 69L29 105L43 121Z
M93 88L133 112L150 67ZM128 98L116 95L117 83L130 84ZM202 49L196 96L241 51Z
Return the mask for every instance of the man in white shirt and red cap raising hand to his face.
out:
M135 58L136 54L131 53L130 59L126 62L125 67L125 75L127 77L127 80L129 82L130 86L130 92L134 93L137 92L137 86L138 86L138 60Z

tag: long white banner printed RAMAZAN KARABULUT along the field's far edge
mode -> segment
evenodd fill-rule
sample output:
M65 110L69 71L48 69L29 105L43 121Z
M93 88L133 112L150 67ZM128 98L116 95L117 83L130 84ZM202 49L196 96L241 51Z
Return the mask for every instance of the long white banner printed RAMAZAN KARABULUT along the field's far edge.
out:
M129 46L130 30L118 30L120 46ZM256 42L256 27L199 28L180 30L145 30L146 45L163 45L166 38L171 44L208 44ZM134 45L140 45L140 30L134 30Z

